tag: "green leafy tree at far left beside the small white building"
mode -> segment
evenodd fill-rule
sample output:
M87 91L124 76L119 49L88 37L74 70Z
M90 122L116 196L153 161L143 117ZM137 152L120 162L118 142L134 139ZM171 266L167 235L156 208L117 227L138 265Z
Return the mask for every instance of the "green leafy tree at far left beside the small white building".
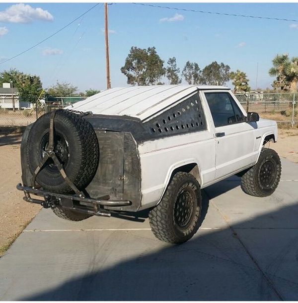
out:
M40 78L35 75L24 74L16 69L0 73L0 85L12 81L12 86L17 88L19 100L35 103L42 92Z

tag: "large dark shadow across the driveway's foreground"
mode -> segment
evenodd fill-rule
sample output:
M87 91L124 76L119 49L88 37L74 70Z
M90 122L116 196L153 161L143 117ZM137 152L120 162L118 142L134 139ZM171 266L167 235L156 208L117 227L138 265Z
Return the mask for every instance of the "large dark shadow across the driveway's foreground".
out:
M152 239L151 249L128 259L123 255L110 266L104 265L104 249L93 247L88 257L92 264L83 262L86 274L19 299L297 300L297 214L298 201L230 227L199 230L182 245ZM141 238L132 241L127 245L138 245L132 243Z

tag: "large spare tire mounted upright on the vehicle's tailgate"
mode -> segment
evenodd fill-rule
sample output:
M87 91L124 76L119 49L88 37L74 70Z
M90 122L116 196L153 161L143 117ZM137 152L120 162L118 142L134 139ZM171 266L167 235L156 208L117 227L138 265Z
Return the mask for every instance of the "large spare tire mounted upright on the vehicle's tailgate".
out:
M27 161L33 174L49 144L50 115L46 113L32 125L27 140ZM68 178L78 190L93 179L99 160L99 147L91 124L82 115L59 109L54 117L54 152ZM72 191L49 158L36 177L44 190L62 194Z

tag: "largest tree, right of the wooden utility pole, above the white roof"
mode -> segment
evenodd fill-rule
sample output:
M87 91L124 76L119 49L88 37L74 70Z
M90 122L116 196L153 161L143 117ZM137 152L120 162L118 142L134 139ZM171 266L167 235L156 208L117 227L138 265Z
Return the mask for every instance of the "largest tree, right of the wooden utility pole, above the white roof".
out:
M128 84L154 85L160 84L165 68L155 47L142 49L134 46L130 49L121 72L127 77Z

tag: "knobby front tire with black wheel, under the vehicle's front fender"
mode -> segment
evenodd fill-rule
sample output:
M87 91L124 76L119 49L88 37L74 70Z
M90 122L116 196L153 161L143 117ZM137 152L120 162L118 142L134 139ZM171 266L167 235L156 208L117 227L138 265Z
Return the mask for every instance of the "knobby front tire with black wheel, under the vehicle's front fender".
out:
M244 193L255 197L270 196L281 179L282 165L278 154L270 148L262 148L259 160L241 177Z

